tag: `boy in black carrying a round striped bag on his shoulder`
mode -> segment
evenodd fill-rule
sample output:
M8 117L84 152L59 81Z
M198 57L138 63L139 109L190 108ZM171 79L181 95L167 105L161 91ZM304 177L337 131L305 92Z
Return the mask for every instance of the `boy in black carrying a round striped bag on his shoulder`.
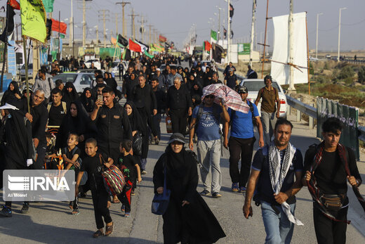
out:
M114 226L109 212L109 207L111 205L110 195L107 193L102 179L102 165L104 164L105 167L110 167L113 164L113 160L107 157L107 155L97 153L97 150L98 143L96 140L93 138L87 139L85 142L86 157L81 165L75 186L75 195L78 195L82 175L84 172L87 172L93 198L96 228L98 228L98 231L93 233L94 238L104 236L102 230L104 228L104 222L102 221L102 217L104 217L106 224L105 236L110 236L113 233ZM105 158L107 158L107 162L105 162Z

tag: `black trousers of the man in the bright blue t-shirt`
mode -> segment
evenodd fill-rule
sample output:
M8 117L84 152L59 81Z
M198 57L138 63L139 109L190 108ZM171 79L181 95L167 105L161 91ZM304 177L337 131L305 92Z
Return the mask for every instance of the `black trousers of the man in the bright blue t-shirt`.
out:
M230 148L230 176L232 183L239 183L239 187L246 187L248 176L250 176L251 160L253 152L253 138L241 139L230 137L228 146ZM241 157L241 170L238 163Z

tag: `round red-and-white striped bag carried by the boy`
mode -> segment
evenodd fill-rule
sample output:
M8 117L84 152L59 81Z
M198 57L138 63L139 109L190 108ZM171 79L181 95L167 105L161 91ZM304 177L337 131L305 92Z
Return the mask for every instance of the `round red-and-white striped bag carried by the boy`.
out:
M101 155L99 155L99 157L100 162L102 163L104 160ZM126 180L117 166L111 165L109 169L105 168L101 175L104 181L104 186L110 195L118 195L121 191L123 191L123 188L126 185Z

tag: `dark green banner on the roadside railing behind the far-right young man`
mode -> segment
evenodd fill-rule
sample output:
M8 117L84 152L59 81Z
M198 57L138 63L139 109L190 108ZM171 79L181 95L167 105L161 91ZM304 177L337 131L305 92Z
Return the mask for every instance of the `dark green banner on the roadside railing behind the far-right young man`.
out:
M326 98L317 98L317 137L319 138L321 138L322 124L328 117L337 117L343 122L340 143L352 148L359 160L359 139L357 139L359 136L359 109Z

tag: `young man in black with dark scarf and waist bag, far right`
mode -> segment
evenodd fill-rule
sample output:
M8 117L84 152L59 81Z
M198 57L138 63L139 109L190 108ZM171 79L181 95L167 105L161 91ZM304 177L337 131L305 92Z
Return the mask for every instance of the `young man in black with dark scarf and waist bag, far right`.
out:
M313 221L318 243L346 243L349 200L347 181L365 210L364 198L359 193L361 176L354 151L340 141L343 123L328 118L322 124L324 141L312 145L305 153L303 185L308 186L313 198Z

